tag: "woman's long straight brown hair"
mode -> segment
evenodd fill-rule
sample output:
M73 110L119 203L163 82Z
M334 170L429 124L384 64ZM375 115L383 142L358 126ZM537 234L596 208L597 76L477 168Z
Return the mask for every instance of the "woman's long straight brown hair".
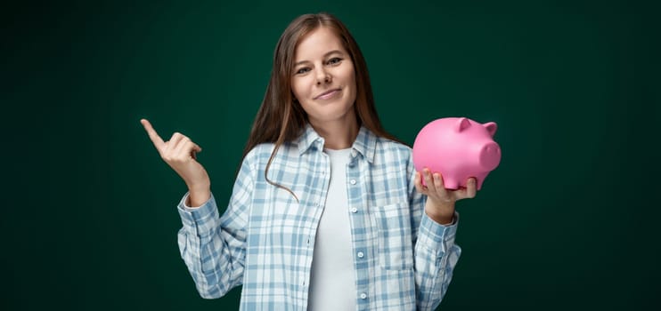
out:
M300 103L295 100L291 91L291 75L294 69L294 56L300 40L317 28L326 27L338 36L349 53L355 68L355 116L358 125L363 125L375 135L389 140L397 140L383 129L371 92L370 75L363 53L358 48L354 36L351 36L347 27L330 13L301 15L292 20L278 40L273 52L273 69L271 79L266 87L262 106L257 112L255 122L252 124L250 137L243 156L248 155L252 148L260 143L274 143L273 153L265 168L265 179L275 187L282 187L294 193L287 187L276 184L268 179L267 172L273 161L273 156L284 142L296 140L307 124L307 115ZM400 141L401 142L401 141ZM294 197L297 197L294 195ZM298 200L298 197L297 197Z

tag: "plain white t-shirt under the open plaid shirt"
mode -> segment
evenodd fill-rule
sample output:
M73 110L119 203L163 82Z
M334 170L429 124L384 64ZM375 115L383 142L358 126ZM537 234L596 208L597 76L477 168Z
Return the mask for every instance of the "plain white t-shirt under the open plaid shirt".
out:
M331 159L331 185L314 243L307 309L353 311L356 289L347 196L351 149L324 152Z

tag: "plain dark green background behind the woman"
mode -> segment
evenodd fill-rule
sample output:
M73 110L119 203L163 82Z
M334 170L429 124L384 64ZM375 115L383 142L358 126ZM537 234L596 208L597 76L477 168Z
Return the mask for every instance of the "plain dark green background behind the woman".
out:
M185 186L139 119L184 132L227 202L273 48L336 14L379 115L499 125L500 166L458 203L441 309L657 309L659 25L649 2L2 4L2 309L233 310L200 299L176 232ZM221 208L223 209L223 208Z

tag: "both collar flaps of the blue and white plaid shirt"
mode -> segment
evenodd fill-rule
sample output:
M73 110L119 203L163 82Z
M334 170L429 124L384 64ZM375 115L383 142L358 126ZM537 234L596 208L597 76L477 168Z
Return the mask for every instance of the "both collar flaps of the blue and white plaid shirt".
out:
M314 131L312 125L306 124L306 128L303 130L303 133L296 140L296 144L298 145L298 154L303 155L313 146L317 150L323 150L323 143L323 138ZM351 155L352 157L355 157L357 154L363 155L363 157L369 163L372 163L374 160L374 154L376 153L376 144L377 136L366 127L361 126L360 131L358 132L358 136L355 137Z

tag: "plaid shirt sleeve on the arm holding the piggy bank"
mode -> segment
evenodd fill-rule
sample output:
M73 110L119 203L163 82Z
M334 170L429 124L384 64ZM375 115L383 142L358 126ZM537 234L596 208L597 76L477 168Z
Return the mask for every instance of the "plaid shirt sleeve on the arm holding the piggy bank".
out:
M435 310L445 296L453 270L461 255L461 248L454 243L459 214L454 213L453 223L441 225L430 219L425 212L427 196L415 188L415 168L409 161L409 200L412 209L415 265L415 290L418 310Z

